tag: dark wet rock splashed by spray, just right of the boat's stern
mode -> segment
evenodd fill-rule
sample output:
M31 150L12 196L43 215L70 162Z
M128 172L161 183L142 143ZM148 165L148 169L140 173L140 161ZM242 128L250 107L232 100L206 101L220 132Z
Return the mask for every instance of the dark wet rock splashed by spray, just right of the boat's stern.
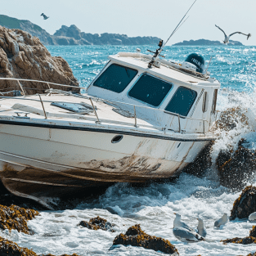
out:
M256 154L243 146L245 139L238 142L238 149L233 153L222 150L216 160L218 176L222 186L235 191L246 185L256 170Z

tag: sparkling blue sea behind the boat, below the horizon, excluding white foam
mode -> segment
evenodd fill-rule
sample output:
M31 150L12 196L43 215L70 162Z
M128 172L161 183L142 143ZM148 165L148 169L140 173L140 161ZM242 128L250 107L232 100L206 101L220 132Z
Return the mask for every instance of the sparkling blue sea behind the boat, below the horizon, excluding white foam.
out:
M101 71L107 57L117 52L142 53L147 49L155 50L155 46L48 46L52 56L62 56L68 61L74 76L79 79L80 86L86 87ZM231 88L239 92L252 92L256 82L256 47L219 46L219 47L165 47L167 60L182 62L191 52L204 56L212 76L222 83L222 88Z

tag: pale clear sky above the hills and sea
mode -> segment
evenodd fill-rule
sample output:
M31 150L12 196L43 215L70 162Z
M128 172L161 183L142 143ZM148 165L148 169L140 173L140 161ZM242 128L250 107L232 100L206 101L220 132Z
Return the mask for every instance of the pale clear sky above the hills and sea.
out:
M1 0L4 1L4 0ZM129 37L155 36L167 40L195 0L6 0L0 14L30 20L54 34L61 25L76 25L82 32L115 33ZM50 16L43 20L41 13ZM256 45L256 0L197 0L188 20L168 45L200 38L221 41L226 34L245 45Z

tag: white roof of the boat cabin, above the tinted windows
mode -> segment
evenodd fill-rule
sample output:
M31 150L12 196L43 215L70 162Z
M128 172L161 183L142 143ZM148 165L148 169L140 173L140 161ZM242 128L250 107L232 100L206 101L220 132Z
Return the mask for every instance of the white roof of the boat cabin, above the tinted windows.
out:
M143 60L141 58L135 58L131 56L119 56L112 55L109 56L110 60L118 62L120 65L129 65L131 67L136 67L137 69L145 70L145 72L148 72L149 74L153 74L156 77L159 78L165 78L168 80L173 81L181 81L183 83L188 83L188 85L199 85L199 86L213 86L213 87L219 87L220 84L218 83L218 80L215 80L213 83L207 81L206 79L200 79L196 78L193 75L186 74L185 72L182 72L180 70L176 70L172 67L168 67L166 65L160 65L159 68L152 66L152 68L148 68L148 62L149 60Z

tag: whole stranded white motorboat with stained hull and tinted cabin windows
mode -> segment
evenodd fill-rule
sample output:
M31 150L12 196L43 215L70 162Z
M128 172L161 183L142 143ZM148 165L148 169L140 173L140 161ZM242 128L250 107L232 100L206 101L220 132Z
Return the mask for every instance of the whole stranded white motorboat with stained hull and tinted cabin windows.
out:
M0 97L7 190L47 205L47 197L109 182L177 177L215 139L220 83L203 71L202 56L183 64L141 52L109 59L85 93L47 83L45 94Z

